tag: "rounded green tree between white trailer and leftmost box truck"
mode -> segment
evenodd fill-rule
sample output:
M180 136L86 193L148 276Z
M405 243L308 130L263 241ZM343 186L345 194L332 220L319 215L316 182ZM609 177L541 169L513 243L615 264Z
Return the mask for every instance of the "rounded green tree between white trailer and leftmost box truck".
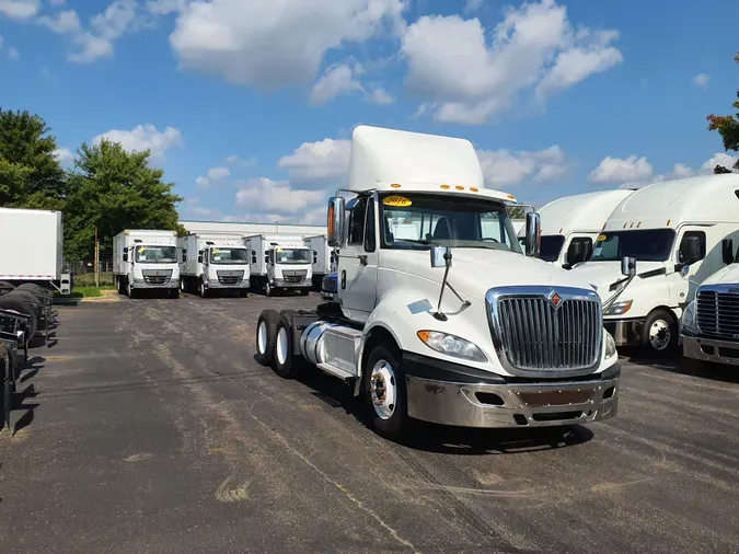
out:
M66 256L90 259L94 235L101 251L112 247L124 229L178 230L172 193L174 183L162 181L164 171L149 166L150 151L127 152L117 142L82 143L69 175L65 212Z

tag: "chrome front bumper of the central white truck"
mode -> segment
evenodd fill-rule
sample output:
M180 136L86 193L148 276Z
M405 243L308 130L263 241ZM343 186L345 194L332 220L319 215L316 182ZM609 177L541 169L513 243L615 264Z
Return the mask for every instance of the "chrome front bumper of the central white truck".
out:
M552 427L611 418L619 377L597 381L481 384L406 376L408 416L458 427Z

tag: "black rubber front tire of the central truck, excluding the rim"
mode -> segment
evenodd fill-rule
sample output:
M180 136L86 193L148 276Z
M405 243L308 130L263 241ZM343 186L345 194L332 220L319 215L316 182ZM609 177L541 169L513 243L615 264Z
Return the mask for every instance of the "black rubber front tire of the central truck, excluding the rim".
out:
M373 370L381 360L384 360L392 368L396 393L392 415L389 417L381 417L372 401ZM407 412L405 376L397 348L384 344L374 344L367 356L362 373L362 393L372 428L385 439L401 439L408 430L411 420Z

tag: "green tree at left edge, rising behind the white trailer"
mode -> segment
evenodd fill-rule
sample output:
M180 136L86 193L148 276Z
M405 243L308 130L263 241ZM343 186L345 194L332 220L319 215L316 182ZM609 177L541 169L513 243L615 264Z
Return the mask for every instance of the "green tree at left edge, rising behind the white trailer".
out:
M0 107L0 206L60 209L65 172L54 155L56 138L30 112Z

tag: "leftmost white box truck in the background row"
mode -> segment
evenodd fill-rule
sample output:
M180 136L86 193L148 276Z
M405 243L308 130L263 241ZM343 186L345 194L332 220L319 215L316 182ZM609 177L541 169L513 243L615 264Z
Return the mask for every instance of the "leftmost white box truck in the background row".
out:
M113 238L113 274L118 292L134 298L141 290L180 296L177 233L126 229Z

